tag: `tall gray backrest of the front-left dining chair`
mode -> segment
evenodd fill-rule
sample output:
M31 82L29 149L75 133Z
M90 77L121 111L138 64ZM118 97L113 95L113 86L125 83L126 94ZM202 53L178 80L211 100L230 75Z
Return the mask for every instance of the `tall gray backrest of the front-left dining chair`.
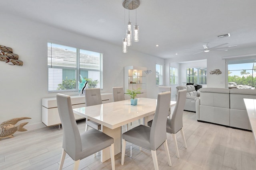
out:
M63 130L62 148L75 160L76 154L82 150L82 143L70 96L57 94L57 106Z

